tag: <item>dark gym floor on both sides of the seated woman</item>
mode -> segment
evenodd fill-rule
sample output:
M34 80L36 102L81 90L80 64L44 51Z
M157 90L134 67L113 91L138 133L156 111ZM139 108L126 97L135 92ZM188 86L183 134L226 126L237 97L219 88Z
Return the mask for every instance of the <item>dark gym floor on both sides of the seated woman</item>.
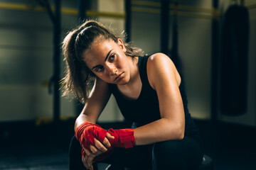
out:
M195 121L201 131L205 153L213 159L215 170L256 169L255 128ZM40 126L31 122L0 123L0 169L68 169L73 123L74 120ZM104 126L108 125L102 124Z

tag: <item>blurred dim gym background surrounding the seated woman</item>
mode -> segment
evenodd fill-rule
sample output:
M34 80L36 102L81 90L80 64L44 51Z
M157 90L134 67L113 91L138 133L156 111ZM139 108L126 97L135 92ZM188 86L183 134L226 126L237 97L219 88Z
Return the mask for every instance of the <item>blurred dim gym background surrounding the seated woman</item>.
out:
M82 105L59 90L60 46L88 18L174 60L215 169L256 169L255 0L1 0L0 13L0 169L68 169ZM98 123L126 125L113 97Z

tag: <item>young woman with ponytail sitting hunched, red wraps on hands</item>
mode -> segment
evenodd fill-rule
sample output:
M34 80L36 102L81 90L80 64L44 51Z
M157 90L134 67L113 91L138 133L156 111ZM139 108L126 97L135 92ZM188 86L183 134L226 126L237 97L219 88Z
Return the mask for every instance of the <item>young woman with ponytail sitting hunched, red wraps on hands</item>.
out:
M132 169L196 169L201 164L198 129L169 57L142 57L141 49L97 21L72 30L63 53L65 94L85 103L75 121L70 169L93 169L94 162ZM111 94L132 127L104 130L95 124Z

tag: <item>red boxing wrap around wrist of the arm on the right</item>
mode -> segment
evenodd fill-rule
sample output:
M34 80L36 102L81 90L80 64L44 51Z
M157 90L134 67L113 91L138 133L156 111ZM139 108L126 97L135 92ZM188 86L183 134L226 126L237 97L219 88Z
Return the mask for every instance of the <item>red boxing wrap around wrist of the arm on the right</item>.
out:
M135 145L134 129L108 130L110 135L114 136L114 140L110 140L113 147L131 148Z

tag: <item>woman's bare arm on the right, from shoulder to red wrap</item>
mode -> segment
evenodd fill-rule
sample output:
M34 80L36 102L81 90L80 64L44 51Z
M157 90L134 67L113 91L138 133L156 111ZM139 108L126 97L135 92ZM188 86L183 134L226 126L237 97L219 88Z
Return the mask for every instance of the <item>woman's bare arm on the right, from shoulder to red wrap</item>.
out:
M147 62L149 84L156 90L161 119L134 129L136 145L183 139L185 116L178 86L181 82L174 63L156 53Z

